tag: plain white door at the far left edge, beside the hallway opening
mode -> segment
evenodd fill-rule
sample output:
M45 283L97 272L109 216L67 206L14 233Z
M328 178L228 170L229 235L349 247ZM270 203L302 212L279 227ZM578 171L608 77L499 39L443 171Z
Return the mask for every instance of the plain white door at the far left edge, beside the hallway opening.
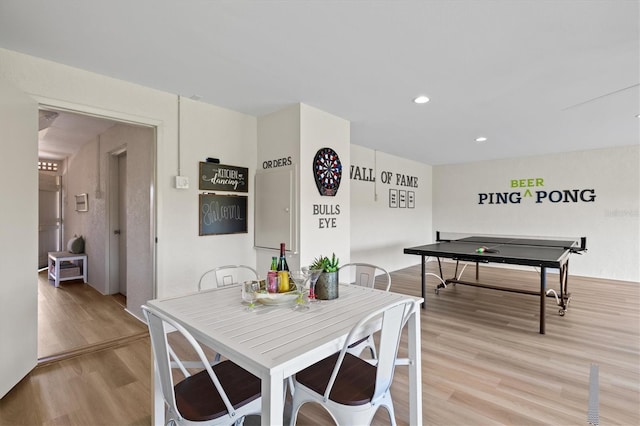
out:
M37 363L38 104L0 80L0 398Z

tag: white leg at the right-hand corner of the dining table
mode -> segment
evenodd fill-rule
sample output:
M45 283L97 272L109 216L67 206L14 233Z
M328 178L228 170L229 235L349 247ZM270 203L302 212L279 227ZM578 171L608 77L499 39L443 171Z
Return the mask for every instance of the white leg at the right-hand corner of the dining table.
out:
M409 337L409 424L422 425L422 350L420 347L420 310L416 308L408 321Z

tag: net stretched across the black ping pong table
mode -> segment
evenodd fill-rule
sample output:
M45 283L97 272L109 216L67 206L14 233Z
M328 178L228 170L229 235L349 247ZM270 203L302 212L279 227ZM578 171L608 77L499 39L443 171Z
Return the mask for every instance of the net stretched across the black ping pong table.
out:
M581 254L587 250L587 237L543 237L517 235L465 234L436 231L438 243L472 244L479 252L498 253L500 246L529 246L562 248Z

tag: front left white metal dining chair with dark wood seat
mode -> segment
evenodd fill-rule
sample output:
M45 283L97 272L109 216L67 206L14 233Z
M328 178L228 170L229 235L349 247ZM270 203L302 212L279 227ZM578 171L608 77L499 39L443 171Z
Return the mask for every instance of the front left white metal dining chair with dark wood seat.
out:
M148 306L142 306L154 354L156 380L167 406L165 424L241 425L247 415L259 415L262 407L261 381L231 361L211 365L200 344L180 324ZM199 371L174 358L167 341L170 326L188 342L199 359ZM175 383L172 363L184 378ZM175 373L179 375L179 373Z

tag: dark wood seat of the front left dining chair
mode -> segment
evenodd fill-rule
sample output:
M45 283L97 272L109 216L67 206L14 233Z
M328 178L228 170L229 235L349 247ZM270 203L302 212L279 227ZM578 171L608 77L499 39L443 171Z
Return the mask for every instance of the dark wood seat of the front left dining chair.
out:
M231 361L222 361L212 368L234 408L260 398L261 383L258 377ZM174 389L178 410L188 420L206 421L227 414L224 402L206 370L185 378Z

